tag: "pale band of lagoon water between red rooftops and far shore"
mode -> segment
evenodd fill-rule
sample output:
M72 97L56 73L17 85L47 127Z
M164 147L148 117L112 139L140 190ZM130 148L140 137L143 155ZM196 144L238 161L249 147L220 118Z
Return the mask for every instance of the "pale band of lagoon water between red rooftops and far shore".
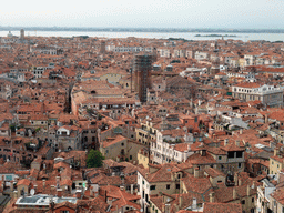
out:
M7 31L0 31L0 37L6 37ZM12 31L13 36L19 36L19 31ZM154 39L169 39L169 38L183 38L186 40L215 40L221 37L195 37L196 34L232 34L236 37L224 37L224 39L233 40L266 40L266 41L284 41L284 33L227 33L227 32L214 32L214 33L200 33L200 32L90 32L90 31L26 31L24 36L37 36L37 37L77 37L77 36L89 36L89 37L105 37L105 38L154 38Z

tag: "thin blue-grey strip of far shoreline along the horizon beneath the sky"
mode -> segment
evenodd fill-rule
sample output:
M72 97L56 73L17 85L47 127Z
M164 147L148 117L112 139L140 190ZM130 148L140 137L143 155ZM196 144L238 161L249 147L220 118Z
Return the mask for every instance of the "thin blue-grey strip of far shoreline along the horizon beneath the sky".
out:
M77 31L77 32L195 32L195 33L284 33L284 29L186 29L186 28L79 28L79 27L0 27L0 31Z

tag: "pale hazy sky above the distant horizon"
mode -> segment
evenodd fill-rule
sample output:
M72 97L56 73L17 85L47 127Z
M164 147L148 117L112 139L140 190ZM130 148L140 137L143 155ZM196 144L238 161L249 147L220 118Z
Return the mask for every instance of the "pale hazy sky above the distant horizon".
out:
M0 26L284 28L284 0L4 0Z

